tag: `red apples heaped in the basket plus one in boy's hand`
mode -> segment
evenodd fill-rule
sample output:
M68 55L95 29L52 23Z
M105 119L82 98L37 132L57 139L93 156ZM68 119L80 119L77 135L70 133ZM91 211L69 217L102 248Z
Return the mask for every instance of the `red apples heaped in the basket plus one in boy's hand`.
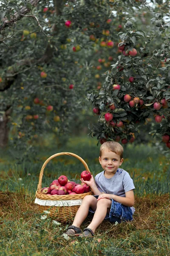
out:
M83 180L90 180L91 174L88 171L81 173ZM59 176L58 180L53 180L49 187L42 188L41 192L44 195L76 195L90 191L90 186L85 183L76 183L69 181L65 175Z

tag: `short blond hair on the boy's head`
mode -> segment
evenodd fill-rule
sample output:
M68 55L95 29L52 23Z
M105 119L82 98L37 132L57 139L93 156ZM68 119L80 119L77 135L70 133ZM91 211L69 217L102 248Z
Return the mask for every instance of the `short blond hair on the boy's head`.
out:
M100 146L100 157L102 156L102 151L105 149L108 149L115 154L118 154L120 156L120 159L123 157L123 147L116 141L106 141Z

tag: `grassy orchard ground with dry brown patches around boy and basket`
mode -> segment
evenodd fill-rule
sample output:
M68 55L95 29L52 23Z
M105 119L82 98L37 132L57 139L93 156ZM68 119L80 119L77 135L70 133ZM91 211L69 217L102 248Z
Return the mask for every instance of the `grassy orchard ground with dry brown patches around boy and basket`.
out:
M170 160L151 145L126 145L122 168L133 177L135 190L134 221L113 225L103 222L94 239L66 240L62 233L68 225L42 219L34 204L40 169L45 160L58 152L82 157L93 175L102 171L96 140L71 138L56 148L50 140L37 147L39 161L18 165L12 152L0 155L0 255L20 256L168 256L170 255ZM7 154L8 153L8 154ZM42 186L59 175L80 183L82 163L62 156L45 167ZM90 219L82 224L85 228Z

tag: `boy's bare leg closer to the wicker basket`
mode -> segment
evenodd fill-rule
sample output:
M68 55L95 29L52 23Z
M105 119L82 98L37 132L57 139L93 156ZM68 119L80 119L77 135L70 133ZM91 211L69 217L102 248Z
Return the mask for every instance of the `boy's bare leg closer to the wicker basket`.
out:
M88 215L88 209L91 207L93 211L96 210L97 199L93 195L86 195L82 200L82 204L80 205L76 216L74 218L73 224L76 227L80 227L82 222Z

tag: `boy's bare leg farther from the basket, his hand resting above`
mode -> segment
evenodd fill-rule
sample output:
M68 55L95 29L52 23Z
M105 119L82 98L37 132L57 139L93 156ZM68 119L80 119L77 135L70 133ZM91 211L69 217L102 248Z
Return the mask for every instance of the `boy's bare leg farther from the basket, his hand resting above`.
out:
M91 224L88 225L88 228L90 228L94 232L96 228L99 226L99 224L102 223L107 214L107 211L110 211L110 208L111 200L107 198L102 198L99 201L97 201L96 212L94 213L94 217L91 221Z

